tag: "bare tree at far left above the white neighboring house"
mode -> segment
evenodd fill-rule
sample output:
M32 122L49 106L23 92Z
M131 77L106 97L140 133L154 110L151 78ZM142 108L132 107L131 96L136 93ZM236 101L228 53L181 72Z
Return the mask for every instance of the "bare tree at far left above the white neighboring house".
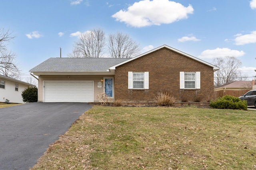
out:
M17 67L16 55L10 51L0 53L0 74L10 78L20 79L20 70Z

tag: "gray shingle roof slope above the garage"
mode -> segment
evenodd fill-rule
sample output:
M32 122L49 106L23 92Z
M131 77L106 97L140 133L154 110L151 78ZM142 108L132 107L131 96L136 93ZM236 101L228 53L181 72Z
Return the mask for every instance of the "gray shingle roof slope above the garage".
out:
M76 72L76 71L106 71L110 66L122 63L128 59L116 58L50 58L35 66L30 72Z

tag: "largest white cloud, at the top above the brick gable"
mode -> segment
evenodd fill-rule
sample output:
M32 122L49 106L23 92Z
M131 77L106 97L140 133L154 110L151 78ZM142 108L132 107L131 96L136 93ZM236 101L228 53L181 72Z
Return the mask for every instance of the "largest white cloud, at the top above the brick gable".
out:
M112 17L132 27L145 27L186 19L193 11L192 5L185 7L169 0L141 0L127 10L116 12Z

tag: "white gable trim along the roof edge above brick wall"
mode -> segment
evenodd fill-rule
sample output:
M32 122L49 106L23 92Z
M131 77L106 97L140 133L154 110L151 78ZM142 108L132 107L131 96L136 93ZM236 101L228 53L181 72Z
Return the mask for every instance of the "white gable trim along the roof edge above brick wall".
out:
M189 58L191 58L191 59L193 59L193 60L195 60L195 61L198 61L198 62L200 62L200 63L206 64L206 65L212 67L214 71L216 71L216 70L219 69L219 67L217 67L217 66L215 66L215 65L213 65L213 64L210 64L210 63L208 63L208 62L206 62L206 61L203 61L203 60L201 60L201 59L198 59L198 58L196 58L196 57L194 57L194 56L192 56L192 55L189 55L189 54L184 53L184 52L182 52L182 51L179 51L179 50L177 50L177 49L174 49L174 48L172 48L172 47L170 47L170 46L168 46L168 45L162 45L162 46L160 46L160 47L157 47L157 48L155 48L155 49L152 49L152 50L150 50L150 51L148 51L148 52L146 52L146 53L143 53L143 54L141 54L141 55L138 55L138 56L136 56L136 57L133 57L133 58L131 58L131 59L128 59L128 60L126 60L126 61L123 61L122 63L118 63L118 64L116 64L116 65L114 65L114 66L111 66L109 69L113 69L113 70L114 70L114 69L116 69L117 66L120 66L120 65L125 64L125 63L128 63L128 62L130 62L130 61L132 61L132 60L138 59L139 57L142 57L142 56L144 56L144 55L147 55L147 54L149 54L149 53L152 53L152 52L157 51L157 50L162 49L162 48L170 49L170 50L172 50L172 51L175 51L176 53L179 53L179 54L181 54L181 55L184 55L184 56L186 56L186 57L189 57Z

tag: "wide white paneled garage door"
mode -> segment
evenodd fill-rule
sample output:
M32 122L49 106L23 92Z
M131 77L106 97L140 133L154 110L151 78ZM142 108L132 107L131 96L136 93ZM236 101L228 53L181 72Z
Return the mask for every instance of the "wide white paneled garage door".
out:
M44 102L93 102L93 81L44 81Z

